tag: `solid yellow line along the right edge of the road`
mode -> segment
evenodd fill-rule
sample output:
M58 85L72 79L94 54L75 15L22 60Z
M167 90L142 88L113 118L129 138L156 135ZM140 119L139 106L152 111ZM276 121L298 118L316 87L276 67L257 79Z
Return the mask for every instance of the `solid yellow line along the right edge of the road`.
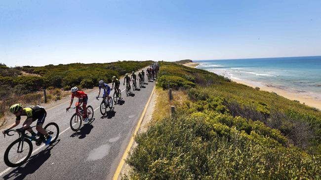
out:
M118 177L119 177L119 175L120 175L120 171L121 171L121 169L122 169L122 166L124 165L125 159L127 158L127 155L128 155L128 152L129 152L129 150L130 150L130 148L131 148L131 146L132 146L132 144L133 144L133 142L134 142L134 135L136 135L136 133L137 133L138 130L139 130L140 124L142 123L143 118L144 118L144 116L145 116L145 114L146 114L146 110L147 110L147 107L148 107L148 105L149 105L149 102L150 102L151 99L152 99L154 90L155 90L155 86L154 86L154 88L153 88L153 90L152 90L152 93L151 93L151 95L150 95L147 103L146 103L146 106L145 106L145 108L144 108L144 111L143 111L143 113L142 113L142 116L140 117L140 119L139 119L139 121L138 121L138 123L137 123L137 125L136 125L136 129L135 129L135 131L134 131L134 133L133 133L133 136L131 136L131 138L130 138L130 140L129 140L129 143L128 143L128 145L127 145L127 148L126 148L124 154L122 155L122 157L121 157L121 159L120 159L120 163L119 163L119 165L118 165L118 167L117 167L117 169L116 169L116 172L115 172L115 174L114 174L114 176L113 176L113 180L117 180Z

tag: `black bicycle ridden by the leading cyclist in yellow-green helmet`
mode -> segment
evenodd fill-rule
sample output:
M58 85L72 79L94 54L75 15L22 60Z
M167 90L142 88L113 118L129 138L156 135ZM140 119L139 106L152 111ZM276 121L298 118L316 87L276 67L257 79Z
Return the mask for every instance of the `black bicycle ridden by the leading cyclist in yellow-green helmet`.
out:
M36 127L32 126L30 128ZM29 128L29 129L30 129ZM59 126L55 122L49 122L43 128L47 133L52 137L49 145L52 145L59 136ZM6 135L13 136L9 132L14 131L19 134L19 138L13 141L4 152L4 163L9 167L18 167L24 164L31 156L33 150L33 144L31 141L35 141L37 146L40 146L42 143L45 143L46 140L41 134L36 137L28 136L25 132L26 129L11 129ZM5 134L4 134L5 137ZM39 137L37 139L37 137ZM22 157L22 159L20 159Z

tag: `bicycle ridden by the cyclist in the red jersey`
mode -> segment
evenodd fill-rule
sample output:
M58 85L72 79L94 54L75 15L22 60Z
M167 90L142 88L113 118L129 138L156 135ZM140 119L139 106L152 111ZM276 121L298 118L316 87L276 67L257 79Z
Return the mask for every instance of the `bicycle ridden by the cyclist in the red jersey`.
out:
M94 109L92 108L92 106L87 106L86 108L87 108L88 119L90 121L94 117ZM76 132L81 127L82 120L84 119L84 112L83 112L83 109L79 106L73 107L71 109L76 109L76 113L73 114L73 116L70 119L70 128L71 130ZM67 111L71 112L69 110Z

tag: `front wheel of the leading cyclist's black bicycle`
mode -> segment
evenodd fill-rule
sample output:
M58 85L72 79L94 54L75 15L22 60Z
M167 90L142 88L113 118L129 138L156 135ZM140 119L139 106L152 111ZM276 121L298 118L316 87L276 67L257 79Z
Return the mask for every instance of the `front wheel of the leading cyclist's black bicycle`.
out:
M19 138L12 142L4 152L4 163L9 167L18 167L25 163L31 156L33 145L31 141L25 138L23 141Z

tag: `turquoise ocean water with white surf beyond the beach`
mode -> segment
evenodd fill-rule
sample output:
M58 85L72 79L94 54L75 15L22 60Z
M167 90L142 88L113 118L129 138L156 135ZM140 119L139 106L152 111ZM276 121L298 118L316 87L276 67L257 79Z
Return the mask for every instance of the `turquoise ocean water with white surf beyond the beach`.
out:
M321 100L321 56L240 60L193 60L196 68Z

